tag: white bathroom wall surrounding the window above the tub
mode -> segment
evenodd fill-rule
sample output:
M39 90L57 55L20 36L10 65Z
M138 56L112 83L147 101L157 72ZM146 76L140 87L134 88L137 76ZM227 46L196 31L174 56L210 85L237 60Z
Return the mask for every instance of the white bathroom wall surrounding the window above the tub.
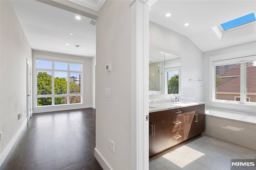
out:
M237 112L246 112L246 113L255 113L255 105L246 105L246 104L238 104L238 103L226 103L226 102L212 102L212 99L209 99L210 89L209 89L209 82L210 77L209 75L209 58L210 56L226 54L226 53L234 53L237 51L244 51L248 49L255 50L256 42L244 43L240 45L235 45L231 47L226 47L222 49L216 49L213 51L208 51L203 53L203 85L204 85L204 101L206 102L206 107L213 108L213 109L223 109L223 110L230 110L230 111L237 111ZM256 53L256 50L255 50ZM241 56L243 57L243 56Z

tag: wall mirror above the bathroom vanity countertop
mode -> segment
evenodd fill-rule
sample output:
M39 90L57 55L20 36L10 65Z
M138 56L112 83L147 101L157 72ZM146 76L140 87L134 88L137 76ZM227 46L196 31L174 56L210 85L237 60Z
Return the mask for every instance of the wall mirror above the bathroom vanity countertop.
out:
M149 51L149 95L180 94L181 58L170 53Z

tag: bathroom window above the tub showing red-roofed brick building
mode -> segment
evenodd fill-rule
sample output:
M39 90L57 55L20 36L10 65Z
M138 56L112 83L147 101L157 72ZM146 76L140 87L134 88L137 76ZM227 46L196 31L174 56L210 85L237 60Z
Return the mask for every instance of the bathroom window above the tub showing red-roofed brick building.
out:
M215 100L256 102L256 61L216 65L215 84Z

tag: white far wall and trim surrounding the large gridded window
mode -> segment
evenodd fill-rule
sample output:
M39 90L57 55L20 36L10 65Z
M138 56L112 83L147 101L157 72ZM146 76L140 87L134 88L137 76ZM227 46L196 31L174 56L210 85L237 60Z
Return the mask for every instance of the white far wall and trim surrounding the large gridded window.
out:
M88 57L79 57L75 55L64 55L64 54L58 54L58 53L50 53L50 52L44 52L44 51L33 51L33 60L37 55L43 55L44 57L47 57L48 59L52 59L52 57L57 58L64 58L64 59L74 59L84 62L83 72L82 72L82 82L83 82L83 96L82 101L83 104L81 105L72 105L72 106L54 106L54 107L34 107L33 105L33 113L43 113L43 112L49 112L49 111L62 111L62 110L69 110L69 109L82 109L82 108L89 108L92 107L92 58ZM35 76L35 75L34 75ZM33 87L34 87L34 81L33 81ZM33 89L33 93L36 94L36 90ZM35 100L35 97L33 97L33 100Z

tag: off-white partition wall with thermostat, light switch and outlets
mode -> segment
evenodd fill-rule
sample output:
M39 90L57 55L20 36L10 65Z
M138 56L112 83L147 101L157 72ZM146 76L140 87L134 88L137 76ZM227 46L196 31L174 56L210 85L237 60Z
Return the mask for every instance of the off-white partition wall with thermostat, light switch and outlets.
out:
M96 148L107 166L131 169L131 10L130 1L106 1L96 27ZM112 71L105 65L112 63ZM136 68L135 68L136 69ZM110 88L112 97L105 97ZM108 138L115 153L108 149ZM99 157L96 156L97 160Z

